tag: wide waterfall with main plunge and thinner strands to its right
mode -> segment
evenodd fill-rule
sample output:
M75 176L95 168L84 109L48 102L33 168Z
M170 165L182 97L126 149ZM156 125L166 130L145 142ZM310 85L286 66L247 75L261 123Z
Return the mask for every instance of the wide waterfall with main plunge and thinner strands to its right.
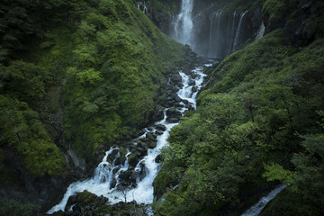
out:
M247 11L226 12L216 4L202 4L182 0L180 13L171 23L173 39L205 58L225 58L248 39L255 40L257 30L251 29Z

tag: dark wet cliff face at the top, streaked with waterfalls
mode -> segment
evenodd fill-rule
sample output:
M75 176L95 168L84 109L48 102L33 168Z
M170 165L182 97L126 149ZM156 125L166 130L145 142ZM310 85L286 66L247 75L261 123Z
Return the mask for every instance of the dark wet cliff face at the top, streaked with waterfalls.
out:
M255 40L262 24L256 5L240 7L224 1L139 1L138 5L166 35L189 44L205 58L224 58L241 49Z

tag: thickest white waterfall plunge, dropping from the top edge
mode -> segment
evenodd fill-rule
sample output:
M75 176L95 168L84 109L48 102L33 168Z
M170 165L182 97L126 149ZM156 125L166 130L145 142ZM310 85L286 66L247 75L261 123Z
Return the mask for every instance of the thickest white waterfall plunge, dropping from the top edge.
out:
M183 0L181 12L175 18L175 40L193 46L193 0Z

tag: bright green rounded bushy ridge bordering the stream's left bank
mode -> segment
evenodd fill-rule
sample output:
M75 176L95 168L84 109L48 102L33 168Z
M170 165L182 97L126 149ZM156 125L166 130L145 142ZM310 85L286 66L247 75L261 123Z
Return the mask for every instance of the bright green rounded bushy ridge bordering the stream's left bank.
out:
M65 136L90 160L148 123L162 72L184 49L129 2L106 0L89 11L74 34L63 101Z

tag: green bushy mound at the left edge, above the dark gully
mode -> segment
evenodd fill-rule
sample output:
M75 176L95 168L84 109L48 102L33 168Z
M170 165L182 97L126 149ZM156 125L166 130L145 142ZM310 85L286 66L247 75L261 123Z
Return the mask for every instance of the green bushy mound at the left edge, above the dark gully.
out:
M21 163L33 177L63 174L65 161L49 139L38 113L17 99L1 95L0 101L1 147L14 147Z

